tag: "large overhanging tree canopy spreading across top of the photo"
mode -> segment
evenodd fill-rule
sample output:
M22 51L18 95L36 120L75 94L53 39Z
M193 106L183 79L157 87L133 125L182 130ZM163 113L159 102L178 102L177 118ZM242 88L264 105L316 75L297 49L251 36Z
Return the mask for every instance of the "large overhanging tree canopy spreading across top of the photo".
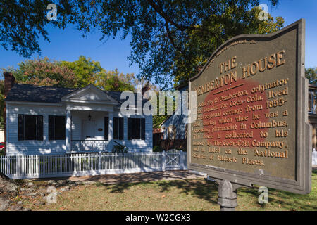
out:
M60 28L75 24L83 35L99 30L101 39L122 32L131 35L129 60L137 63L137 77L167 86L196 75L223 41L237 34L280 29L277 23L258 19L258 0L113 0L54 1L58 21L46 19L49 1L4 0L0 9L0 44L22 56L39 52L37 39L47 23ZM271 6L278 0L269 0ZM251 8L251 10L250 10ZM16 26L18 24L18 26ZM268 27L271 27L268 29Z

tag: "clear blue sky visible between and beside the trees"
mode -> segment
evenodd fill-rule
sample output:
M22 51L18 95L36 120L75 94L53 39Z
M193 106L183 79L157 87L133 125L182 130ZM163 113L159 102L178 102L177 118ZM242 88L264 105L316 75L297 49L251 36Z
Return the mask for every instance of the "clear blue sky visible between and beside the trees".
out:
M267 3L267 0L260 1ZM269 13L285 18L285 26L294 23L300 18L306 20L306 68L317 66L317 1L316 0L280 0L277 7L268 8ZM39 44L42 49L42 56L48 56L54 60L74 61L80 55L91 57L92 60L99 61L106 70L118 68L119 72L138 73L137 65L129 66L127 57L130 56L130 39L121 40L108 39L105 43L99 41L101 34L94 32L82 37L74 27L66 30L58 30L53 27L47 28L51 42L40 39ZM6 51L0 46L0 68L8 66L17 67L18 63L26 58L20 57L18 53ZM35 53L32 58L38 56Z

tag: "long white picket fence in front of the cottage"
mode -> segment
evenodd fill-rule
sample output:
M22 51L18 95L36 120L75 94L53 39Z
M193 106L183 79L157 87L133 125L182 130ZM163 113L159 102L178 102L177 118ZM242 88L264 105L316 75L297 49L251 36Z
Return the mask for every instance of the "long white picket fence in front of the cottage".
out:
M187 169L187 155L162 153L77 153L0 157L0 172L11 179L88 176Z

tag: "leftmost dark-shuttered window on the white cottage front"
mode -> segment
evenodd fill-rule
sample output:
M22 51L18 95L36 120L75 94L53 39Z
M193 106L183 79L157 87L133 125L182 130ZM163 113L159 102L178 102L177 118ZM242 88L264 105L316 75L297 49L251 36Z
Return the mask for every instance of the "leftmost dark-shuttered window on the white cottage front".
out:
M42 115L18 115L18 140L43 140Z

